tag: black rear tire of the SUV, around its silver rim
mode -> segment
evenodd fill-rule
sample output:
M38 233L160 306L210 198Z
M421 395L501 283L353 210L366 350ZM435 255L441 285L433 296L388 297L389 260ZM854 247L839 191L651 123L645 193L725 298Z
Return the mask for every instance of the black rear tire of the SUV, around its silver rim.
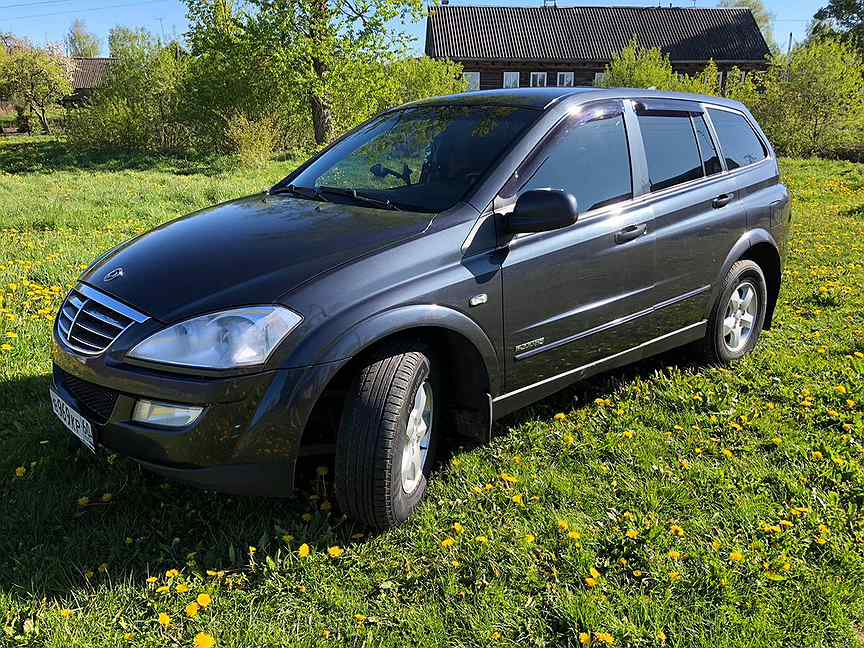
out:
M726 332L728 329L724 327L724 320L730 316L730 300L733 293L745 285L752 287L755 298L758 300L756 312L753 315L752 327L746 340L741 336L737 338L739 344L732 344L736 338L734 333ZM717 297L708 318L708 330L705 332L705 339L702 342L702 351L706 359L712 363L730 364L750 353L762 333L767 306L768 288L762 268L757 263L746 259L732 264L723 279L720 295ZM734 319L734 315L732 317Z

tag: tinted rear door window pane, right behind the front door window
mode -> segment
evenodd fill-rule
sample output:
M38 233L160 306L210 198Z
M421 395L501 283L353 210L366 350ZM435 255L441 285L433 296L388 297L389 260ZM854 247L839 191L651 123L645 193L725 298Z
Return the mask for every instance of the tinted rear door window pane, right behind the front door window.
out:
M690 115L639 115L651 191L702 177L702 157Z

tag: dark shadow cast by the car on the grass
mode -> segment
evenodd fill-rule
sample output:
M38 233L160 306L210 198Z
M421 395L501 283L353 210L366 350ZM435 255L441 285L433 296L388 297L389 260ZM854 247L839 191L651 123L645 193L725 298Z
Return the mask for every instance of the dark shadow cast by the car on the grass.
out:
M698 357L673 351L577 383L497 422L496 432L608 398L670 365L698 367ZM170 568L230 572L302 543L326 551L371 536L336 509L326 464L301 464L298 492L286 499L168 482L131 460L81 447L54 418L49 383L42 375L0 388L0 590L26 598L118 579L143 586ZM440 459L466 450L449 448Z

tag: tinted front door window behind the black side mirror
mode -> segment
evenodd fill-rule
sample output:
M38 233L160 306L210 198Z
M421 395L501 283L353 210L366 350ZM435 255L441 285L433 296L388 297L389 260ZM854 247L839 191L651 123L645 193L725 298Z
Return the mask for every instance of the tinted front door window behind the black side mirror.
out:
M564 189L587 212L633 197L624 117L571 124L557 133L522 190Z

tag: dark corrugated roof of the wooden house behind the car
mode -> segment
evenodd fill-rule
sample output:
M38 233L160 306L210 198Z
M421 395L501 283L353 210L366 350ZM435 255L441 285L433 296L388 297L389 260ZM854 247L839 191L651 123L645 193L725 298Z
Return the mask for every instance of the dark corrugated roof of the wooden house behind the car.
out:
M426 54L473 62L608 62L634 36L673 62L762 62L769 53L749 9L442 5L429 10Z

